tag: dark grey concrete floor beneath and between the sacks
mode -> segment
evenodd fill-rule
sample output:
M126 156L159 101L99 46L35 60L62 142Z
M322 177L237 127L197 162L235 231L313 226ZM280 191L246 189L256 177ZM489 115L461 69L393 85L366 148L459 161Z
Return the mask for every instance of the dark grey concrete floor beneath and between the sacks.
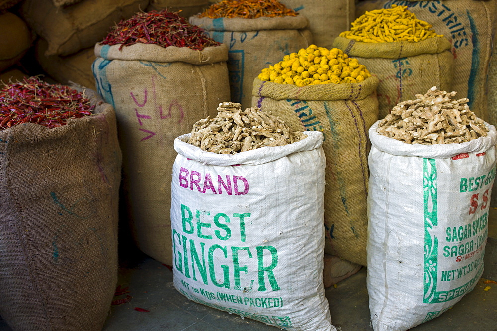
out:
M160 262L138 255L121 267L119 285L129 287L129 303L112 306L104 330L269 330L277 328L242 319L189 301L172 285L172 272ZM485 286L491 289L484 291ZM341 330L369 326L366 269L326 289L333 325ZM139 307L149 312L135 311ZM453 309L416 330L497 330L497 285L480 280Z

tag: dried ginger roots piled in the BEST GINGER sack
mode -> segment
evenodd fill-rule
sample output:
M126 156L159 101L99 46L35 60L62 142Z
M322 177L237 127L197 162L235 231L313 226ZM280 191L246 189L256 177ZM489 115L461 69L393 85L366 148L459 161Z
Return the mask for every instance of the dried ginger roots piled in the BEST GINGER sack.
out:
M284 146L307 137L292 132L279 117L257 107L242 111L237 102L221 102L215 118L193 125L189 144L217 154L236 154L260 147Z

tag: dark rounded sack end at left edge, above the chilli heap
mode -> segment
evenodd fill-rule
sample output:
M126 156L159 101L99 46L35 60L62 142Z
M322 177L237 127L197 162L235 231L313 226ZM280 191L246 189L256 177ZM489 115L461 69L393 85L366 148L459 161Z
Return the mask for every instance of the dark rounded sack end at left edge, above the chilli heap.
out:
M0 71L19 61L33 39L22 19L10 12L0 13Z

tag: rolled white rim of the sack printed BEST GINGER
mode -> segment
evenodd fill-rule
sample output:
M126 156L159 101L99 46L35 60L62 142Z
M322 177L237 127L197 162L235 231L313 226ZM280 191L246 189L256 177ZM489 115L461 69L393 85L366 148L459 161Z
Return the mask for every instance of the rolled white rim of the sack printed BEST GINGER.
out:
M260 147L236 154L217 154L202 150L188 143L191 133L183 134L174 139L174 150L188 159L202 164L216 166L259 165L275 161L293 153L311 151L320 148L323 143L323 132L304 131L307 138L285 145Z

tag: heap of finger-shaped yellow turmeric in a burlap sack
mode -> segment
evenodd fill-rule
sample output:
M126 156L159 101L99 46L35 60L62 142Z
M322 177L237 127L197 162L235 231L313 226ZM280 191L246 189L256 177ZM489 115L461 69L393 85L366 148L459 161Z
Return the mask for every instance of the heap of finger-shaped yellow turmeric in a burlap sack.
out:
M431 24L417 19L407 6L395 4L390 9L366 11L351 25L349 31L340 33L340 37L363 43L418 42L443 37L436 34Z

